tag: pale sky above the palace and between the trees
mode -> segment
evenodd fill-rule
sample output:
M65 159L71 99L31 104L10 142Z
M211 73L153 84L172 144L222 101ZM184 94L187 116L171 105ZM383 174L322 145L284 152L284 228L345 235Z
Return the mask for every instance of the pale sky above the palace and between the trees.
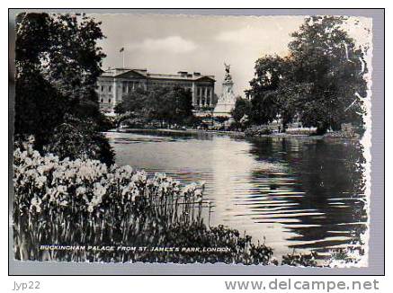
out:
M225 62L231 65L237 95L244 95L249 87L256 59L273 54L285 56L290 33L304 21L304 16L91 16L103 22L106 39L98 44L107 55L103 69L122 67L120 49L124 48L125 67L147 68L150 73L188 71L215 75L215 91L219 94ZM370 27L371 23L364 26ZM363 41L364 31L354 31L353 36Z

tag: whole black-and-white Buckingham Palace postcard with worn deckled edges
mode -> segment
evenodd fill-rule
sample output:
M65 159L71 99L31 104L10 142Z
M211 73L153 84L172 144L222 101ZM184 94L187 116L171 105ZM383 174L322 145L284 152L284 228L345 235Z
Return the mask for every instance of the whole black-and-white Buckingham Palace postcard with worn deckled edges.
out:
M15 261L369 265L371 18L27 11L13 30Z

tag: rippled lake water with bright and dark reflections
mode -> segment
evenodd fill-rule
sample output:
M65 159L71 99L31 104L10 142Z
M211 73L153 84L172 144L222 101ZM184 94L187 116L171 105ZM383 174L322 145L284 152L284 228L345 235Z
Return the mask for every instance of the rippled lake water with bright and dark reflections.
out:
M358 142L147 130L106 136L117 164L206 182L210 225L246 231L274 254L326 253L365 227Z

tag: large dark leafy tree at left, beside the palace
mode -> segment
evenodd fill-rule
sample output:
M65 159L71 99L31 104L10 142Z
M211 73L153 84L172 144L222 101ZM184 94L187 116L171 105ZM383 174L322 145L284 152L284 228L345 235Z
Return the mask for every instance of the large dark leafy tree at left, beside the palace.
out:
M65 117L104 124L95 92L104 54L100 22L83 15L20 13L15 40L15 134L42 150ZM108 146L107 146L108 147Z

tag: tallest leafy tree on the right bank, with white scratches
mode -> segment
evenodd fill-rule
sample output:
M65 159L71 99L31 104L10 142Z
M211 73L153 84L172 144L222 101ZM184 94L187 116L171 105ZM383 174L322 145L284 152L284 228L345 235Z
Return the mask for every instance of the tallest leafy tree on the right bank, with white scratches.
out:
M304 126L317 127L319 134L340 129L343 122L363 125L365 52L344 31L345 21L335 16L308 17L292 33L294 40L289 45L288 79L298 85L291 92L298 95L299 118Z

